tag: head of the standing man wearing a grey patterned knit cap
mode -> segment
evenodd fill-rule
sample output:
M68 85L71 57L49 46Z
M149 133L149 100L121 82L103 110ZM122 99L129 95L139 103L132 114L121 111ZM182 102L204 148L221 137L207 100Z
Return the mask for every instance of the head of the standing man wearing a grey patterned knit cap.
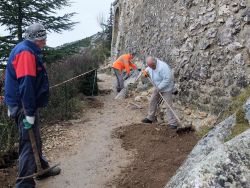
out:
M39 48L46 45L47 33L40 23L31 24L25 31L25 39L34 42Z

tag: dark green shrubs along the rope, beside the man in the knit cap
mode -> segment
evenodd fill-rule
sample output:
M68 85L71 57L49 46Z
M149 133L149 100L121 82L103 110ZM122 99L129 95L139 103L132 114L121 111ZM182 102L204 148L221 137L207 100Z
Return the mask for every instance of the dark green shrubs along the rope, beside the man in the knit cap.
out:
M52 63L48 65L47 71L50 85L54 86L96 68L98 68L98 62L89 53L86 53L71 56L63 62ZM48 107L41 110L42 120L53 122L72 118L77 112L77 104L79 103L79 101L72 99L76 98L79 93L98 94L95 76L95 72L90 72L52 88Z

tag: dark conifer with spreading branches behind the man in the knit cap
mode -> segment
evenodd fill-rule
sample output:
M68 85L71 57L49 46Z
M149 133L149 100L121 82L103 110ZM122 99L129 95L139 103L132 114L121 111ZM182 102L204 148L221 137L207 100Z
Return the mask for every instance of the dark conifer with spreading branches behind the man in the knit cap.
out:
M0 0L0 25L11 36L0 36L0 54L6 54L8 46L22 41L25 28L31 23L42 23L49 32L71 30L77 23L71 21L74 12L56 16L57 10L67 6L68 0ZM7 48L2 48L4 44Z

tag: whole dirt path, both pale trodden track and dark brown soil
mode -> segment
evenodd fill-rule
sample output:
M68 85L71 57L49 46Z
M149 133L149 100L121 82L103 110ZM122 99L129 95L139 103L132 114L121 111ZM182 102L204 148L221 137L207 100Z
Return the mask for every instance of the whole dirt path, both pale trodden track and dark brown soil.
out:
M101 90L113 77L99 74ZM197 142L194 133L177 135L157 124L140 121L147 111L123 102L114 93L85 99L80 118L42 128L49 162L60 162L62 173L37 182L38 188L162 188ZM86 102L87 101L87 102ZM16 168L0 169L0 188L11 187Z

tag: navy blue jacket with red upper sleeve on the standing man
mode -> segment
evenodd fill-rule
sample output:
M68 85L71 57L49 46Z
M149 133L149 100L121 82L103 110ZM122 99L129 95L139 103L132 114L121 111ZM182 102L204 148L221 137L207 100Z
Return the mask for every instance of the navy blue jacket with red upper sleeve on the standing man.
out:
M41 50L24 40L11 51L5 75L5 103L24 108L25 115L34 116L37 108L48 104L49 83Z

